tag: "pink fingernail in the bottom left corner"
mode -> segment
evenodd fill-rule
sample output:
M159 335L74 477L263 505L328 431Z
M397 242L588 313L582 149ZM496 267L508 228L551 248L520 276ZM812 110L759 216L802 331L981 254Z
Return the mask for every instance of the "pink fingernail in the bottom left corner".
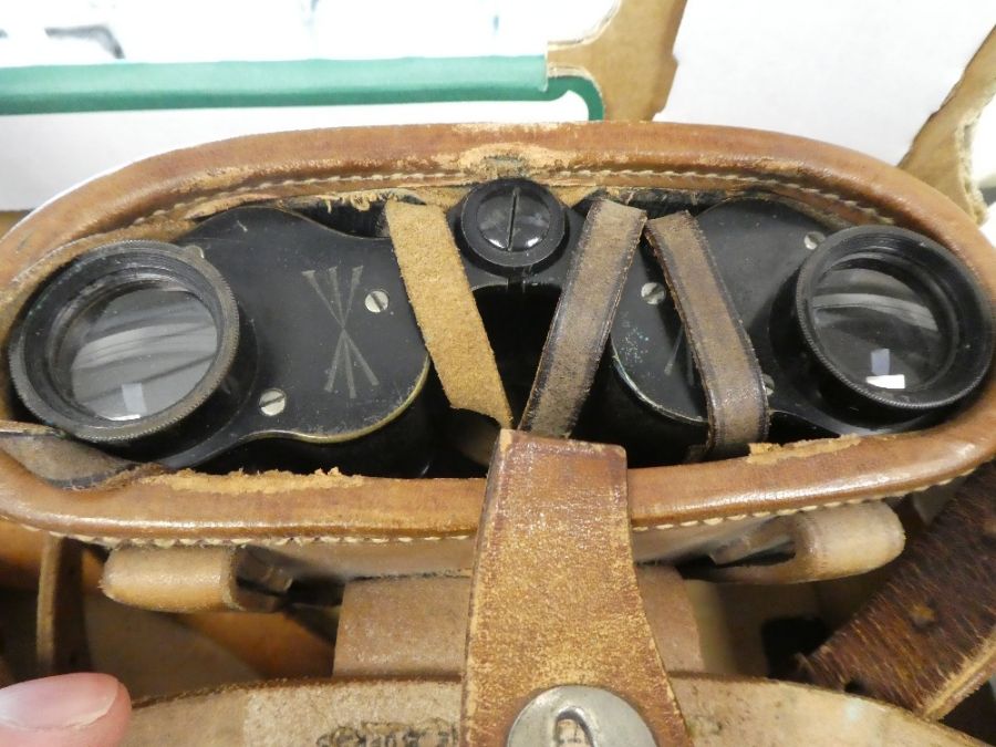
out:
M25 730L77 727L104 716L117 697L106 674L63 674L0 689L0 722Z

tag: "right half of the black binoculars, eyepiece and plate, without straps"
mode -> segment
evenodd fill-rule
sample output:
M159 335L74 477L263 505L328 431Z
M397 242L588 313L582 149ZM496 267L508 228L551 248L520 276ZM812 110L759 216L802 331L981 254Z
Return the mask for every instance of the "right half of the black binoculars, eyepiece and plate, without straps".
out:
M707 208L697 224L757 355L770 440L922 427L984 378L992 307L935 241L892 226L833 230L798 206L757 198ZM674 445L678 459L705 439L699 373L649 246L626 278L609 355L595 419L632 461L658 459L653 442Z

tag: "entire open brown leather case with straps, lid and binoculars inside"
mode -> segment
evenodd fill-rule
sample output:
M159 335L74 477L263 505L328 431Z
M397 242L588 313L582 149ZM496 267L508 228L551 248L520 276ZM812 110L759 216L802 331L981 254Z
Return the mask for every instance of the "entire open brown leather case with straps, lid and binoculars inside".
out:
M341 609L333 679L157 702L134 744L963 744L930 720L996 658L994 298L955 205L796 137L212 143L0 240L0 515L125 604ZM896 558L807 684L704 671L683 578Z

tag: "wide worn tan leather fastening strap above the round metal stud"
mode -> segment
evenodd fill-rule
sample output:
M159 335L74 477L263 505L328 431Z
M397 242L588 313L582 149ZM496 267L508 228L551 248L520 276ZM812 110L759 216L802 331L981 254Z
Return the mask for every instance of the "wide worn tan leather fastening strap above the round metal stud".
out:
M658 745L691 745L646 620L619 447L502 430L478 531L461 744L502 745L558 685L615 693Z

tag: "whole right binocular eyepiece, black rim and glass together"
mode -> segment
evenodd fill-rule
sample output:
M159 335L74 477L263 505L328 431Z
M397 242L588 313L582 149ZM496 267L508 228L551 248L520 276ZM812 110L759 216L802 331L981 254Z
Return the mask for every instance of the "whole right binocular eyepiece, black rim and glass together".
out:
M993 353L992 311L971 272L901 228L850 228L822 242L799 271L796 310L834 378L898 409L964 397Z

